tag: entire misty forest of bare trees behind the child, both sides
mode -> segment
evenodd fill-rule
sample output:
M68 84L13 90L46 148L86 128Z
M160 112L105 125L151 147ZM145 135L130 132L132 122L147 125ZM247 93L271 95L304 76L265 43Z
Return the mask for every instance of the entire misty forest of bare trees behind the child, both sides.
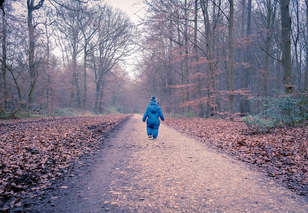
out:
M4 0L2 117L138 113L156 95L173 115L307 120L306 0L140 3L133 23L103 0Z

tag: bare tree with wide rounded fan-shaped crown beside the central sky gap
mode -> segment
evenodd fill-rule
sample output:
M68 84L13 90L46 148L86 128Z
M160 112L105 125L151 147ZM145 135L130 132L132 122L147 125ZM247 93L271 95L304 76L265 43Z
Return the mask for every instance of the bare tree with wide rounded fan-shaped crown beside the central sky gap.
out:
M97 20L99 30L95 39L98 45L94 44L91 62L96 84L94 111L102 112L105 75L132 53L135 28L126 14L110 6L98 5L96 13L101 13L101 19Z

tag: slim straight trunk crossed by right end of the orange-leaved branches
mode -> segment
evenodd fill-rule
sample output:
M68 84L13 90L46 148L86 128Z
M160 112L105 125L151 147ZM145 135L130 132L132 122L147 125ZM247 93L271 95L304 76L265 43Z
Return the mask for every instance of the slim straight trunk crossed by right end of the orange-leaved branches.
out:
M229 52L229 103L230 103L231 117L234 114L233 16L234 16L234 0L230 0L228 52Z

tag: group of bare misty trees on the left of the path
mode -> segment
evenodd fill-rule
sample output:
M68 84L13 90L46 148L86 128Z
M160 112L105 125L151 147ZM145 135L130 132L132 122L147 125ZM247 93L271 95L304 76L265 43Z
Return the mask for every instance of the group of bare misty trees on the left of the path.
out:
M127 15L100 1L26 2L26 7L23 1L4 3L0 114L62 107L101 113L109 103L123 106L124 98L105 100L109 91L104 90L111 82L129 81L121 63L133 53L136 29ZM28 15L14 12L16 5Z

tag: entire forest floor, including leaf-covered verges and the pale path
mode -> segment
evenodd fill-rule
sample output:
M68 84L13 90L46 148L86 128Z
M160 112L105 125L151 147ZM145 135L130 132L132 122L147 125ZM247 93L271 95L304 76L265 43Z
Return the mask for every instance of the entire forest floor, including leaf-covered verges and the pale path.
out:
M0 211L308 213L306 128L168 118L151 140L141 119L0 123Z

